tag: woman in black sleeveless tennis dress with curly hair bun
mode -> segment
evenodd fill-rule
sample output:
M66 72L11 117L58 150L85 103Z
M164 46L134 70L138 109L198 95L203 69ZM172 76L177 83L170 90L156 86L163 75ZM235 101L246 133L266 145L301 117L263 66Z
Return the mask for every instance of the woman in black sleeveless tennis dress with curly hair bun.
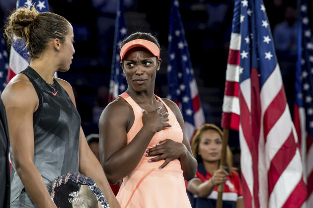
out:
M60 15L20 7L9 16L5 35L24 39L30 56L1 95L11 140L11 207L55 208L53 181L78 171L96 182L111 208L120 207L87 145L71 85L54 77L72 63L72 25Z

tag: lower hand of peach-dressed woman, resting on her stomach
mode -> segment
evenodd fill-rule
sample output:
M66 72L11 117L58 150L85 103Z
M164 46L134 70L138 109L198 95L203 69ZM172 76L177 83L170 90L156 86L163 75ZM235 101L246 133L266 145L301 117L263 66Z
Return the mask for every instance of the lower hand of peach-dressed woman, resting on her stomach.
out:
M174 159L178 159L181 156L186 154L187 148L184 144L175 142L171 139L166 139L157 144L156 147L153 147L147 150L146 156L157 156L149 159L149 162L155 162L162 159L165 159L165 162L158 168L162 169L165 167L170 161Z

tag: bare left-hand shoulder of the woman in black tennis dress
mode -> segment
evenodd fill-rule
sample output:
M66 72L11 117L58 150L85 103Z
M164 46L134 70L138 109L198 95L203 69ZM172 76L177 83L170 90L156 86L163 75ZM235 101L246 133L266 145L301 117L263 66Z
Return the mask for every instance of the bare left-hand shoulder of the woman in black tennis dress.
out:
M1 99L5 107L22 106L36 108L39 103L33 84L26 75L17 74L4 88Z

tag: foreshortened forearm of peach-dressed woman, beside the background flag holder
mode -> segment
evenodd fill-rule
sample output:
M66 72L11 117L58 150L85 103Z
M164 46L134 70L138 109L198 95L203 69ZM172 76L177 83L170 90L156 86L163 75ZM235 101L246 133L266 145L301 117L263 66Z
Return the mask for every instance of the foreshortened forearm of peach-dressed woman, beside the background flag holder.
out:
M190 154L184 145L185 153L183 156L179 157L181 169L183 170L183 175L185 180L192 179L197 171L197 160Z

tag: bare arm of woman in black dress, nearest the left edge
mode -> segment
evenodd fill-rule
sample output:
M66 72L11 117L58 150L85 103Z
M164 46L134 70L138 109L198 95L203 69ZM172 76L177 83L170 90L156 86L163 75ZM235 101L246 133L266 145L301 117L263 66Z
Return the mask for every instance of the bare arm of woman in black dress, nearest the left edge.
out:
M19 74L6 86L1 99L18 176L38 208L56 208L34 165L33 113L39 103L34 87L25 75Z

